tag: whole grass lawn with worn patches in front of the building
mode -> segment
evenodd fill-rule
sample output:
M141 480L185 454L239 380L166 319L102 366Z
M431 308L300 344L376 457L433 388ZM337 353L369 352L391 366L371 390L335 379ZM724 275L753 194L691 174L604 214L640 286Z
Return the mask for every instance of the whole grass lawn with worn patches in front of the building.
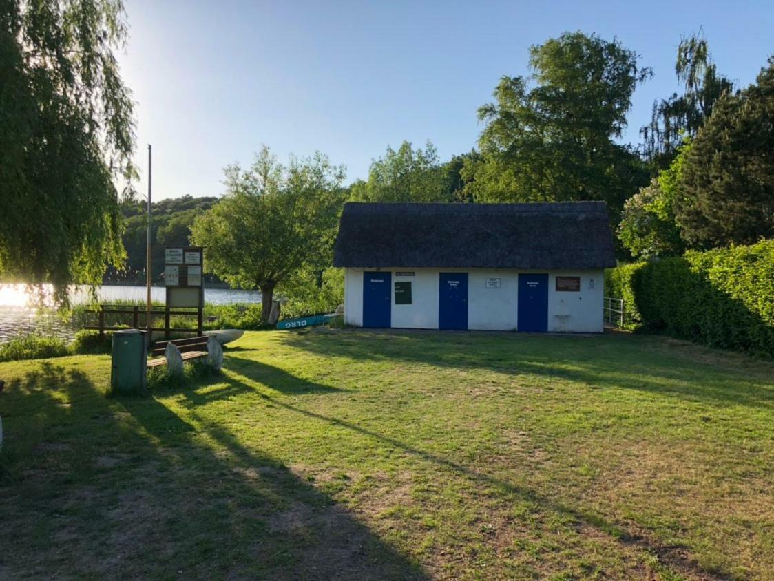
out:
M245 333L107 398L0 364L0 578L774 576L774 364L664 337Z

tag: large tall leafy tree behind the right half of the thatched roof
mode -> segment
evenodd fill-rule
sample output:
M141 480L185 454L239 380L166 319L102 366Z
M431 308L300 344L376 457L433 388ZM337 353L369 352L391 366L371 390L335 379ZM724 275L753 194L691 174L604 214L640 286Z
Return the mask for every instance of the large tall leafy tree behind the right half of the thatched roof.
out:
M566 32L529 50L525 77L502 77L481 159L464 177L475 200L605 200L612 213L646 183L639 156L618 145L637 84L651 74L617 40Z

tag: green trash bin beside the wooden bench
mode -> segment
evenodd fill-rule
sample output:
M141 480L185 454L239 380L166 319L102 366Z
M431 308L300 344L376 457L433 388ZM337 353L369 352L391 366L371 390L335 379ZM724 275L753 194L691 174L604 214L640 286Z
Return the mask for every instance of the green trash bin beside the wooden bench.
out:
M125 329L113 333L110 391L115 395L142 395L147 388L146 332Z

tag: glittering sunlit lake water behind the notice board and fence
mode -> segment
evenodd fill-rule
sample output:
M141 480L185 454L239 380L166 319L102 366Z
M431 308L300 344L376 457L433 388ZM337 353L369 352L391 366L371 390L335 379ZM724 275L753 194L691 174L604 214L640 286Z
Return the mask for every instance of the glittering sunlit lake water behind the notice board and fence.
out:
M145 301L146 287L105 285L96 289L99 302ZM153 286L151 297L164 302L163 286ZM70 302L74 305L91 302L89 287L73 287ZM233 289L204 289L204 302L212 305L229 305L235 302L261 302L261 293ZM54 313L30 305L25 285L0 285L0 343L27 333L40 333L51 337L72 339L75 331Z

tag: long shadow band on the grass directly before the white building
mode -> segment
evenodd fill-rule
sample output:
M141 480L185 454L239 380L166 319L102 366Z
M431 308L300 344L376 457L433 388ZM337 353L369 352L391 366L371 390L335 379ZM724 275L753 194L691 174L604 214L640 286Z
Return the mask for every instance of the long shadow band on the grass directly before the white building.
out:
M311 354L342 357L355 363L422 364L514 376L536 374L720 407L774 407L774 364L664 337L359 330L332 335L289 333L283 342Z

